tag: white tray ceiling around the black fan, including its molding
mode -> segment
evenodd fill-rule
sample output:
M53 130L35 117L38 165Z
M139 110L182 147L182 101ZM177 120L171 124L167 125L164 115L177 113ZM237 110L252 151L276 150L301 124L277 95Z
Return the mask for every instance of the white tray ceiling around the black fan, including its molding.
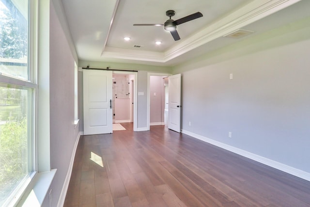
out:
M62 0L62 4L79 60L165 66L310 16L309 0ZM178 25L178 41L163 26L133 26L163 24L169 19L167 10L175 11L174 20L196 12L203 16ZM238 29L254 33L223 37ZM131 39L125 41L125 36Z

